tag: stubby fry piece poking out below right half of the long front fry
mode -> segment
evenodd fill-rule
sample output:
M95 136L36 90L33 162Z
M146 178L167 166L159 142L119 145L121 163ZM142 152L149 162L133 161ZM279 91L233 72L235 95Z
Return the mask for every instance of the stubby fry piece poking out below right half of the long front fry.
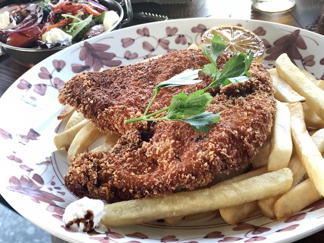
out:
M258 201L252 201L237 206L219 209L219 213L226 223L235 225L250 217L258 209Z

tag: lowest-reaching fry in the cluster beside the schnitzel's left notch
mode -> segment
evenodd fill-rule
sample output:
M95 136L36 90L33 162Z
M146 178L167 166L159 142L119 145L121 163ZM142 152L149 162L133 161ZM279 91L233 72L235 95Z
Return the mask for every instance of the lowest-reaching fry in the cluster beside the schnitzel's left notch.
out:
M67 151L67 159L71 161L75 155L84 152L87 147L103 135L93 123L89 122L75 135Z

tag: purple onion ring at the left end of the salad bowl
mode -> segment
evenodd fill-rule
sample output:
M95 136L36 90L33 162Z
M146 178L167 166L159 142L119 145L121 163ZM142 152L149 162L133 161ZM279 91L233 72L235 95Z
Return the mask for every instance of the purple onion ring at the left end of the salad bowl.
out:
M25 11L29 11L29 15L25 17L19 24L17 24L13 29L2 29L1 32L4 33L17 33L30 30L37 25L39 25L43 18L43 9L35 4L12 4L5 6L0 9L0 13L8 11L18 12L20 9L24 8Z

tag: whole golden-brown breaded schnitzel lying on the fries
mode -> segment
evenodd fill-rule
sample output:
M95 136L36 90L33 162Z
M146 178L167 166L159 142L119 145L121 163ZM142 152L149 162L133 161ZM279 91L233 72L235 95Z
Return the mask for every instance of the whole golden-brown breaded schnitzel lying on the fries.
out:
M229 56L222 54L221 69ZM121 134L110 152L88 152L74 157L65 185L76 196L108 202L167 195L210 183L214 176L249 165L271 130L275 99L269 73L259 63L250 66L249 80L209 91L213 101L206 111L222 112L210 132L194 132L184 122L134 122L142 116L162 81L208 59L195 50L178 50L159 59L104 72L77 75L59 95L101 131ZM150 112L169 105L178 93L203 89L210 78L195 85L162 89Z

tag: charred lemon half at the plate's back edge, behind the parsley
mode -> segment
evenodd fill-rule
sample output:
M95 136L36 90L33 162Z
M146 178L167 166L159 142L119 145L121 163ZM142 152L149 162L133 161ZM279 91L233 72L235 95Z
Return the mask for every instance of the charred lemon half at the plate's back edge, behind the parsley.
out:
M219 25L208 29L201 37L200 47L211 45L214 34L218 34L226 42L225 51L231 51L234 54L240 52L253 52L253 58L257 62L262 61L265 50L263 41L250 30L239 26Z

